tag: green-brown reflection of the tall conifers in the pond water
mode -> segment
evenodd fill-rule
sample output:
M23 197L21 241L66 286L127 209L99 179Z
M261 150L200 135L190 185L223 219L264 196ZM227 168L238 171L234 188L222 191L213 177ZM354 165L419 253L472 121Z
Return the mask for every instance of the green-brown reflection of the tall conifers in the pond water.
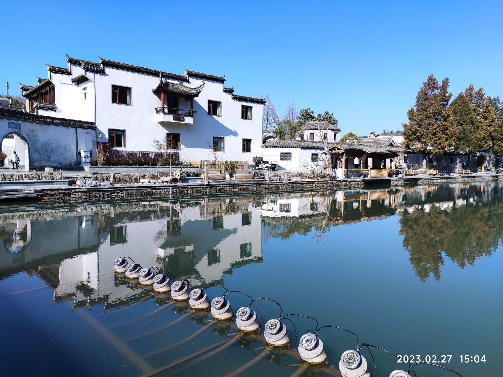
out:
M454 187L449 198L403 210L400 231L415 274L440 280L443 253L461 268L491 255L503 237L499 184ZM445 194L445 193L444 193ZM435 200L435 198L432 198Z

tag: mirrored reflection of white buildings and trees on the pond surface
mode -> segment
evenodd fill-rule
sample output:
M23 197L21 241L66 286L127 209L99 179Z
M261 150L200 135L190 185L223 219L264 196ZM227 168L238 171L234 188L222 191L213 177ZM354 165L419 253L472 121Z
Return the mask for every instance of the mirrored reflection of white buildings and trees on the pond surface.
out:
M269 239L312 233L322 243L332 227L393 215L415 274L423 281L430 275L440 279L444 258L464 268L498 247L501 198L499 183L484 182L72 207L34 204L0 215L0 279L26 271L51 286L55 303L73 301L74 308L105 303L108 310L145 297L141 289L114 297L116 290L101 287L100 276L110 273L119 255L143 267L161 265L177 277L224 284L232 270L261 263L262 244Z

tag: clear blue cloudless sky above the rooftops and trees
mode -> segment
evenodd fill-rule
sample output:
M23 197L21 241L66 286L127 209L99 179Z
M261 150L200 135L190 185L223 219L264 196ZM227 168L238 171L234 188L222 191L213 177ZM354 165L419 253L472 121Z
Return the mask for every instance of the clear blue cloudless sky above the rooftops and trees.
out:
M342 133L406 121L433 72L503 97L503 2L1 2L0 82L35 84L65 54L225 75L280 118L328 110ZM10 33L10 35L7 35ZM0 88L5 92L5 87Z

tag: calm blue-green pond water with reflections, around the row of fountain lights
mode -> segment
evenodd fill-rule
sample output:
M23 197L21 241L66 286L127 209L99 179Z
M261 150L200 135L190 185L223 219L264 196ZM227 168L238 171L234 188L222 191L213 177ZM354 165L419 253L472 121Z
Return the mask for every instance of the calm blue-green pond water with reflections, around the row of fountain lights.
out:
M235 323L215 324L207 311L114 276L114 260L129 256L275 299L283 314L347 328L360 344L422 360L452 355L441 365L464 377L499 375L502 199L501 183L478 182L1 207L0 374L136 376L167 366L156 375L340 375L341 354L356 348L353 335L324 328L331 366L299 371L298 353L265 347L262 333L234 338ZM210 299L224 292L205 290ZM249 302L227 298L234 311ZM273 302L254 304L265 321L278 318ZM299 337L314 327L292 319ZM407 369L372 354L378 377ZM485 362L461 363L460 355Z

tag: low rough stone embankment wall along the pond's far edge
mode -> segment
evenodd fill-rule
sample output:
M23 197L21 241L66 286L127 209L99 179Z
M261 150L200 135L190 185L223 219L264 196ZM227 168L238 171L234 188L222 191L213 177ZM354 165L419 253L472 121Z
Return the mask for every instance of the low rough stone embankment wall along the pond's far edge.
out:
M246 181L204 183L136 183L112 186L60 186L33 187L36 198L44 201L84 201L97 198L181 198L195 195L221 195L243 193L283 193L316 190L347 190L367 187L414 186L434 183L497 180L503 174L470 174L464 176L414 176L390 178L348 178L336 180L289 180L268 182L253 179Z

